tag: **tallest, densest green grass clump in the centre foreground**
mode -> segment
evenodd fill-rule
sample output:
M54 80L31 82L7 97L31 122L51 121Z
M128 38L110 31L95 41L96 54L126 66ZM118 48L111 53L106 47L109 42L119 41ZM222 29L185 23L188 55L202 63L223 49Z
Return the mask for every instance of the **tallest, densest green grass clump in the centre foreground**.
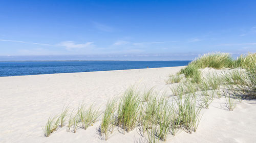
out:
M118 111L117 123L125 131L129 132L136 127L139 113L140 98L133 87L127 89L121 98Z

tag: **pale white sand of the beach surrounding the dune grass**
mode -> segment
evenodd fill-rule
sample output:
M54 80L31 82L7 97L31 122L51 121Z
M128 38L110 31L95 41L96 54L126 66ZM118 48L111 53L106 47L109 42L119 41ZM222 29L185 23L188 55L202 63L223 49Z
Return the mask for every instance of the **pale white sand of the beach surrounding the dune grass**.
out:
M87 130L67 132L58 128L49 137L42 127L49 116L57 115L64 105L77 109L82 102L105 107L109 99L122 96L131 85L170 92L164 80L183 67L62 73L0 77L0 142L146 142L135 128L122 134L117 129L108 140L97 133L100 120ZM256 101L243 100L233 111L225 98L215 99L202 109L197 132L169 134L166 142L255 142Z

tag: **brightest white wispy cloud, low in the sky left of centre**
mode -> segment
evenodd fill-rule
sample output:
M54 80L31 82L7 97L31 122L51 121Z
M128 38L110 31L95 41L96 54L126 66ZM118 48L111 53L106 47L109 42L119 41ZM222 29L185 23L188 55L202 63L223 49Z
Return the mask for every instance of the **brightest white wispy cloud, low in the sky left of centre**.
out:
M75 49L75 48L87 48L93 45L93 42L87 42L83 44L76 44L74 41L63 41L59 44L56 44L57 46L63 46L66 47L66 49Z

